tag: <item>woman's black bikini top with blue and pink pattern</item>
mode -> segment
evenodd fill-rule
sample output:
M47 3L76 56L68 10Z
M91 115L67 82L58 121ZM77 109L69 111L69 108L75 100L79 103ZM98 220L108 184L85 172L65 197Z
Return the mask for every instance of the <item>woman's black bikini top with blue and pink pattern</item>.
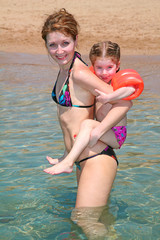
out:
M70 91L69 91L69 77L70 77L70 72L71 72L71 69L73 67L73 64L74 64L74 61L76 58L79 58L85 65L87 65L82 59L81 59L81 56L78 52L75 52L74 53L74 57L73 57L73 60L72 60L72 63L71 63L71 66L69 68L69 71L68 71L68 77L67 77L67 80L59 94L59 98L57 99L56 97L56 85L57 85L57 81L58 81L58 77L59 77L59 74L60 72L58 73L58 76L57 76L57 80L56 80L56 83L54 85L54 88L53 88L53 91L52 91L52 99L53 101L55 101L57 104L61 105L61 106L64 106L64 107L80 107L80 108L89 108L89 107L92 107L94 104L92 105L89 105L89 106L80 106L80 105L74 105L72 104L72 100L71 100L71 96L70 96ZM88 65L87 65L88 66Z

